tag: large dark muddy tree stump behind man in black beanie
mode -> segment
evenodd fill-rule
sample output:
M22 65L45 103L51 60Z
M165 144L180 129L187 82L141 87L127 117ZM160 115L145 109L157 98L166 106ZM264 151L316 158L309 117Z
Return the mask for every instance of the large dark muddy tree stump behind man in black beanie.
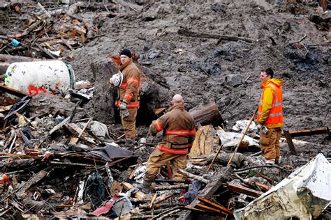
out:
M137 64L138 65L138 64ZM140 79L140 109L138 109L138 125L149 125L156 119L154 109L166 107L172 93L148 77L149 70L138 65L142 76ZM108 83L110 77L119 70L110 58L101 58L91 63L94 74L94 97L91 100L94 118L101 123L115 123L119 121L119 113L115 107L117 88Z

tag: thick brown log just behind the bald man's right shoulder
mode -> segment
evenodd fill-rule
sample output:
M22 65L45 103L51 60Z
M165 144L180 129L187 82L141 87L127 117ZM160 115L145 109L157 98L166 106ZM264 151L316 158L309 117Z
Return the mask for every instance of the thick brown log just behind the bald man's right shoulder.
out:
M209 104L194 107L189 113L196 121L196 124L212 123L214 125L220 125L223 123L223 118L215 102L209 102Z

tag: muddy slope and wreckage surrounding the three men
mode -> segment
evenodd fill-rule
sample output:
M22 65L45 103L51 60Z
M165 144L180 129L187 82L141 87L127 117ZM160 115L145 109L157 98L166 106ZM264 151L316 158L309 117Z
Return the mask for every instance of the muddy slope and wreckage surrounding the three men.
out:
M330 42L330 34L322 31L330 30L330 12L324 13L325 1L309 19L293 17L311 11L314 3L309 1L58 2L0 3L0 218L330 217L331 127L328 111L321 114L323 107L330 107L330 79L318 75L328 70L323 45ZM272 17L261 29L276 31L260 33L257 26L263 19L250 14L277 16L275 11L290 17L289 22ZM233 24L219 22L224 34L213 32L220 26L210 22L212 16ZM309 27L316 24L316 30L310 36L295 32L302 29L297 20ZM209 31L198 32L187 24ZM130 29L135 29L134 38ZM124 36L127 42L122 43ZM108 84L118 71L114 55L128 44L136 47L133 58L142 69L133 148L124 145L114 107L117 91ZM260 50L266 58L259 57ZM285 110L282 158L279 164L267 164L260 155L256 125L242 119L258 100L253 87L258 83L248 69L258 71L279 59L279 71L290 66L281 74L290 81L284 107L293 111ZM65 77L50 80L61 75L59 70ZM310 72L316 81L305 84L302 80ZM326 95L314 95L307 84ZM152 192L144 194L138 186L149 153L161 139L161 134L147 135L148 125L167 111L174 93L187 97L186 107L197 125L189 163L179 170L185 178L172 180L168 164L159 170ZM316 97L314 107L307 97ZM314 116L309 119L302 112ZM316 134L318 138L311 137ZM302 136L308 137L292 139Z

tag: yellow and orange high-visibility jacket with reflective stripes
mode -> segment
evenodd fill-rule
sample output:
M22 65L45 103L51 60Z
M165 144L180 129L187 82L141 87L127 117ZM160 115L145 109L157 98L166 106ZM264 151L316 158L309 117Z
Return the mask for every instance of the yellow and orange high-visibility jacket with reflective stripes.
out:
M266 127L283 127L283 79L268 79L261 84L263 92L258 102L257 122Z

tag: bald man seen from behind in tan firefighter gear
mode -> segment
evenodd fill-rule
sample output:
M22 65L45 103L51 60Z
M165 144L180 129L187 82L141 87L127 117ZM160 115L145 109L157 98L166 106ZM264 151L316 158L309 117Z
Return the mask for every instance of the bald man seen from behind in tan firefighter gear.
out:
M149 127L149 133L156 134L163 131L161 143L149 156L144 182L138 187L142 192L149 193L149 187L159 173L161 166L170 162L172 177L182 180L179 169L186 168L187 154L189 154L194 137L196 124L193 117L184 109L181 95L175 95L171 101L169 112L154 120Z

